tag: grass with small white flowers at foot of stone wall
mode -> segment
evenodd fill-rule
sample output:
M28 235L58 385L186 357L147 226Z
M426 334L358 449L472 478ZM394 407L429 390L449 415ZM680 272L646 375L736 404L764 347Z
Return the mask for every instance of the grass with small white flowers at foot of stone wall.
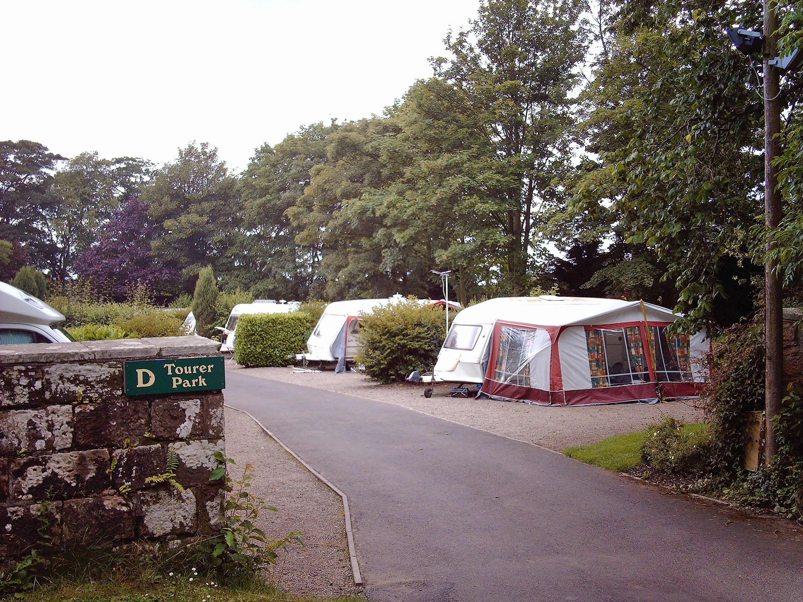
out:
M202 579L190 582L184 577L155 582L115 577L96 581L62 579L37 587L18 598L10 596L10 599L26 602L313 602L312 598L291 596L270 584L224 586ZM363 599L344 597L326 602L359 600Z

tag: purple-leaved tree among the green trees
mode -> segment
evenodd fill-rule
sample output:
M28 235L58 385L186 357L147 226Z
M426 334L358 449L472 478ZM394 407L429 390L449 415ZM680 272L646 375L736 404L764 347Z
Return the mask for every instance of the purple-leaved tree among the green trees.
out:
M129 198L116 209L96 242L75 258L75 272L115 299L124 299L137 286L153 291L158 283L178 275L151 254L152 234L148 205Z

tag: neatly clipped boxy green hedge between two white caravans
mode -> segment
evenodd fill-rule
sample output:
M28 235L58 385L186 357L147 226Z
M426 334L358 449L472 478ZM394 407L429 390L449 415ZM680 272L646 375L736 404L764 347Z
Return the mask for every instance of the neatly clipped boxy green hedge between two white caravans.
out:
M303 311L241 315L234 361L243 366L286 366L288 356L304 348L304 332L311 324Z

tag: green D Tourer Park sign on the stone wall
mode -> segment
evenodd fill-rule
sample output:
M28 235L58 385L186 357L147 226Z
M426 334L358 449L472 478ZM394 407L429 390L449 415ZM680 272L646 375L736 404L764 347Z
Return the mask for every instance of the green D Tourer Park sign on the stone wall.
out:
M192 393L226 388L222 356L124 362L126 395Z

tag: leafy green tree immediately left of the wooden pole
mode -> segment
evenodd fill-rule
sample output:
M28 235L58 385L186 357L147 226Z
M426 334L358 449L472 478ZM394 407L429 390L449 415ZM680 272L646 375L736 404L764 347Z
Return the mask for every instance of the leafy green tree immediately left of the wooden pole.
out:
M600 161L577 182L577 207L608 211L622 238L657 254L692 326L728 313L733 276L749 275L738 262L762 210L763 109L722 27L756 18L731 3L622 4L583 96Z

